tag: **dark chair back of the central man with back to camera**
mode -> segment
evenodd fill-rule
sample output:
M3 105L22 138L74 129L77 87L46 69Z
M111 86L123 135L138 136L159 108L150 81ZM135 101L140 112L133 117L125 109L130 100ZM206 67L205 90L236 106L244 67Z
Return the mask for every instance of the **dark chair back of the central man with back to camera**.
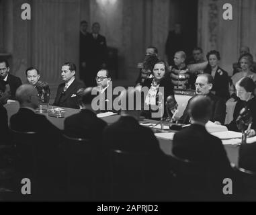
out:
M148 153L110 150L110 198L112 201L142 201L150 195Z

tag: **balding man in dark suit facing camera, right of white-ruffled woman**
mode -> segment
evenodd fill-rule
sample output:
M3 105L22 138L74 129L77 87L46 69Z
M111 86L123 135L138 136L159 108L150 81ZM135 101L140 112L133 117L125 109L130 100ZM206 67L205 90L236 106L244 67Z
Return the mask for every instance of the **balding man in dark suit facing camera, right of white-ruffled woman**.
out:
M224 120L226 117L226 104L223 99L217 97L213 93L211 93L212 87L214 85L214 79L209 74L202 74L199 75L196 79L196 95L206 95L210 97L212 101L212 117L210 121L214 122L215 124L224 124ZM190 116L188 112L188 106L191 99L189 99L187 103L187 107L183 113L183 116L179 119L179 123L181 124L189 124Z

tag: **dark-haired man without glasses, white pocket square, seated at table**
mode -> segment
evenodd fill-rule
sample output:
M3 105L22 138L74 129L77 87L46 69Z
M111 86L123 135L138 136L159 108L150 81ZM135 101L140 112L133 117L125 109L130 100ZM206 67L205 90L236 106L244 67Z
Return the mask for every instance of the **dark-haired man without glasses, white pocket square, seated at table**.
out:
M65 62L61 69L61 77L65 83L58 86L54 106L79 109L77 91L84 88L83 83L75 79L76 67L73 62Z

